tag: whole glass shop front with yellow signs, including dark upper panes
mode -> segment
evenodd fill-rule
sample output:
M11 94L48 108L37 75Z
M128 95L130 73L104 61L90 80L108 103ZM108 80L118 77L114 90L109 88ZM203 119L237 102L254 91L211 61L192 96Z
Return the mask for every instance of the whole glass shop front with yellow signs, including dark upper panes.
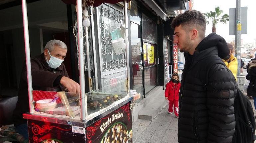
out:
M148 17L140 11L134 1L131 5L131 87L145 95L157 86L157 26L154 16Z

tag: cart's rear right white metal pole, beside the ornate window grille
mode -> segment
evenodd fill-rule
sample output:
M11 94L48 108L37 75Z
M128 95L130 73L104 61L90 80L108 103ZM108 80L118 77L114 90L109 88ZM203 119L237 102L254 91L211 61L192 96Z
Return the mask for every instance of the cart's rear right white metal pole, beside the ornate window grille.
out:
M125 18L125 47L126 47L126 67L127 67L127 84L128 84L128 94L130 94L130 59L129 59L129 43L128 43L128 7L127 0L124 0L124 18Z

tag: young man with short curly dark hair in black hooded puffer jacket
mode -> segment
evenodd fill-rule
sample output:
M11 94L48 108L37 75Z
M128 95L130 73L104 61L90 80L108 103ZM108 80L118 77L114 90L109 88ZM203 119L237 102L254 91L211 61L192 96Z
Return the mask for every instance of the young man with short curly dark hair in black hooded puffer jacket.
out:
M226 41L215 33L205 37L205 17L195 10L178 15L172 27L174 43L185 52L186 60L179 99L179 143L231 143L236 80L224 63L205 69L214 58L222 62L221 58L229 56Z

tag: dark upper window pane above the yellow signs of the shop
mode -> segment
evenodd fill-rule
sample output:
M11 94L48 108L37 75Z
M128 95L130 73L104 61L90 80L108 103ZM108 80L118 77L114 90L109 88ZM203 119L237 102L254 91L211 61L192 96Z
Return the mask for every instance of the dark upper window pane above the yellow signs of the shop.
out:
M142 14L143 41L148 43L157 43L157 25L146 15Z

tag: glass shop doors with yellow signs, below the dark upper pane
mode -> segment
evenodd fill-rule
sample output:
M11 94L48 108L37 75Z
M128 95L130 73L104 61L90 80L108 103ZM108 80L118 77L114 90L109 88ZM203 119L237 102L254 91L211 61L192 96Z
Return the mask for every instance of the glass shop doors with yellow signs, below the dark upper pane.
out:
M131 22L131 31L137 35L131 37L132 87L137 93L141 93L145 97L157 85L156 45L145 42L141 44L140 25Z

